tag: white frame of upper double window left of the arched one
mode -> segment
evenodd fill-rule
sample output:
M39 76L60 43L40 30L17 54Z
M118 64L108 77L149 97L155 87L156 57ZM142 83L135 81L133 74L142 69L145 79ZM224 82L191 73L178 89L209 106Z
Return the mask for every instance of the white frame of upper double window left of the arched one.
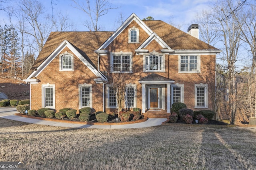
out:
M114 71L114 57L116 55L121 56L121 71ZM122 71L122 56L130 56L130 71ZM111 66L111 73L132 73L132 52L112 52L110 53L110 66Z

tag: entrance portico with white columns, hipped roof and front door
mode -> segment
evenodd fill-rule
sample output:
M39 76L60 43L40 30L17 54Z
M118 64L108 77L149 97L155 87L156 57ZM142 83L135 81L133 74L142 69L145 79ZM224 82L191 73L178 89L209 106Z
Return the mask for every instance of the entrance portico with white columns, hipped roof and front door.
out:
M142 113L149 109L162 109L167 113L171 112L170 85L174 83L174 80L158 74L150 74L141 78L139 83L142 85Z

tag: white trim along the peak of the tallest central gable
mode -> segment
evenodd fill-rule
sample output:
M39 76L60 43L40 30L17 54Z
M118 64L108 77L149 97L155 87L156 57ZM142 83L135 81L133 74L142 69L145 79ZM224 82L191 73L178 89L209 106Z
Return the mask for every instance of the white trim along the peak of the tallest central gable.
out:
M136 14L132 14L126 21L124 21L124 23L105 41L105 43L103 43L100 48L97 49L101 50L101 49L105 49L106 47L108 47L108 45L110 45L110 43L112 43L112 41L132 22L132 21L136 21L136 23L138 23L138 25L140 25L140 27L142 27L142 29L144 29L144 31L146 33L148 33L148 35L151 35L153 33L153 31L142 21L140 20L140 18L136 15Z

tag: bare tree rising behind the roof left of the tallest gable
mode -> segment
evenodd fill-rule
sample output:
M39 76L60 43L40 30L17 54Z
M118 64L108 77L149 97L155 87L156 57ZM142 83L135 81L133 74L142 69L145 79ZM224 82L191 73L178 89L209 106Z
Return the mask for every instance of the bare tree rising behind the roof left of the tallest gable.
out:
M78 0L73 0L76 4L77 9L82 10L89 16L89 20L86 20L84 26L86 26L90 31L99 31L100 26L98 25L98 20L101 16L104 16L108 13L110 9L117 9L110 5L108 0L94 0L94 4L90 4L90 0L84 0L80 3ZM81 5L80 5L81 4Z

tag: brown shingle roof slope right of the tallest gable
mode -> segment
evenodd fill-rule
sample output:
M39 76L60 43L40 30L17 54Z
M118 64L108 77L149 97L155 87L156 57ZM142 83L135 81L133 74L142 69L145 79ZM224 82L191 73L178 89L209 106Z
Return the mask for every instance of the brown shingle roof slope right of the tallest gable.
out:
M144 23L174 50L218 50L211 45L165 23L164 21L144 21Z

